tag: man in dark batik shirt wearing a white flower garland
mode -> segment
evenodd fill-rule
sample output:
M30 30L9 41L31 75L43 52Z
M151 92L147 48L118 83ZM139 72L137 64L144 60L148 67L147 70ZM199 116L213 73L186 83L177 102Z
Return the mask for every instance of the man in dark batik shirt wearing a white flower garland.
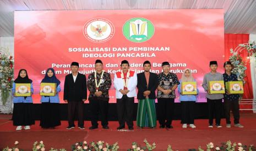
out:
M101 60L95 61L95 72L89 74L87 87L90 91L89 102L91 109L91 127L90 130L98 128L98 115L101 115L101 125L103 129L109 129L107 121L108 90L111 87L110 74L103 70L103 63Z

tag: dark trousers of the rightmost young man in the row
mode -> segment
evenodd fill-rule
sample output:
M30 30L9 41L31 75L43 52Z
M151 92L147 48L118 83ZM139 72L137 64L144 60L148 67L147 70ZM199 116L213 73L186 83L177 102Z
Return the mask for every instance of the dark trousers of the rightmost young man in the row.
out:
M238 100L227 100L224 99L224 107L225 107L225 117L226 123L231 124L230 121L230 111L233 112L234 123L239 124L239 101Z

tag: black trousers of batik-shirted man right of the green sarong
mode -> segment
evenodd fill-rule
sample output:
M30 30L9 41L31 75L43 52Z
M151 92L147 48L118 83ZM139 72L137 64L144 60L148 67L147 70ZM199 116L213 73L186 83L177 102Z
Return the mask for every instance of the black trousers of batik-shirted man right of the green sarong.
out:
M157 98L157 117L160 125L172 125L174 98Z

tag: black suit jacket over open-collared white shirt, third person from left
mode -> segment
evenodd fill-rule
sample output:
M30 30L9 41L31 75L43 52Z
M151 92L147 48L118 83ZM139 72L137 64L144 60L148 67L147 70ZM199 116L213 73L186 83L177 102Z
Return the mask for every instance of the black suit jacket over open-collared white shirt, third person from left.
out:
M66 75L64 83L64 99L68 101L82 101L87 99L86 77L84 74L78 73L77 79L72 73Z

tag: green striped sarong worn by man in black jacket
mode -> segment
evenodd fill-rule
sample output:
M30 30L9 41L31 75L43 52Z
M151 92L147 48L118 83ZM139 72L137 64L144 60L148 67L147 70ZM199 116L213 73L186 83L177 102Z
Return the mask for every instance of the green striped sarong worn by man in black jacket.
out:
M156 126L156 108L155 100L146 98L139 100L137 112L137 126L155 127Z

